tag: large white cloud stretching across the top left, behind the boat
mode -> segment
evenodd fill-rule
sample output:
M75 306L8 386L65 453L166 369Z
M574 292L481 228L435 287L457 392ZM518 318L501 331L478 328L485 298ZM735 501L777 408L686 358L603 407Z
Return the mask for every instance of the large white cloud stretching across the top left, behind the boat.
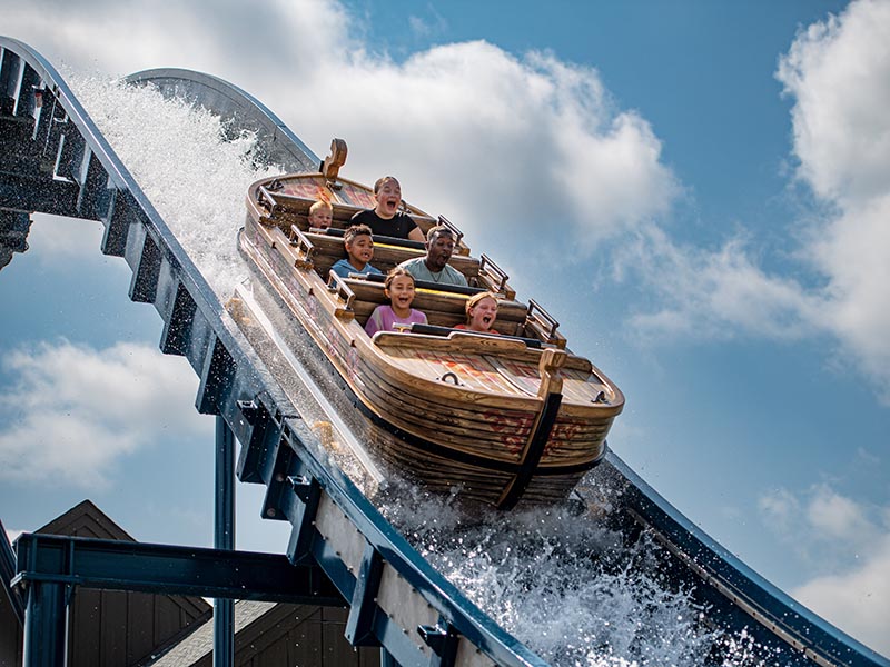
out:
M34 6L51 8L55 20ZM137 24L134 13L142 17ZM409 201L483 245L510 225L506 245L526 247L544 221L567 232L552 235L545 251L568 241L590 252L669 210L679 191L646 120L616 108L594 69L551 53L516 57L474 41L397 62L342 6L313 0L165 12L148 1L87 10L37 0L6 22L53 61L59 54L78 68L126 74L176 66L227 79L309 146L326 147L336 131L349 142L350 176L399 175ZM235 58L245 26L263 36L263 48L239 48Z

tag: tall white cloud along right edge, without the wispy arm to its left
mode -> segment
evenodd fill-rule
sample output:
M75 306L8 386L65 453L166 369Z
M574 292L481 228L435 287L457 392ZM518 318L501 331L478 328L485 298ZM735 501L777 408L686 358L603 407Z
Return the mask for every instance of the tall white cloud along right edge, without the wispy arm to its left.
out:
M778 77L794 99L798 177L833 208L804 249L823 317L890 401L890 4L860 0L809 27Z

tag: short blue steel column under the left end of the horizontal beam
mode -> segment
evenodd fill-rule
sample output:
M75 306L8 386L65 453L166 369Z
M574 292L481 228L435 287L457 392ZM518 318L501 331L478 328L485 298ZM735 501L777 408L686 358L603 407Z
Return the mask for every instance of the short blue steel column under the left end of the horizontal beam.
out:
M67 664L68 608L65 588L63 584L29 583L23 667L61 667Z

